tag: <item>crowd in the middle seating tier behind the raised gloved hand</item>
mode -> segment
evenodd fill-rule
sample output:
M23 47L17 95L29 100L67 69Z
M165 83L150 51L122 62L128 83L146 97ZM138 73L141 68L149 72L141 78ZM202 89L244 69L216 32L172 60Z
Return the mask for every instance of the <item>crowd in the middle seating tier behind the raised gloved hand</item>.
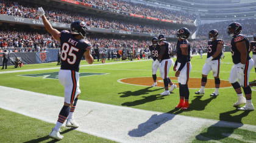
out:
M40 19L37 16L37 7L31 4L20 5L21 2L7 0L0 2L1 15L20 16L23 18ZM118 20L101 19L94 16L85 16L80 13L69 12L68 10L53 10L53 8L44 8L46 17L51 22L71 23L74 20L87 22L87 26L95 28L110 28L115 30L124 30L129 32L154 33L165 35L174 35L176 30L166 30L168 27L157 27L154 25L134 24ZM67 14L69 13L69 14ZM70 14L73 13L73 14Z

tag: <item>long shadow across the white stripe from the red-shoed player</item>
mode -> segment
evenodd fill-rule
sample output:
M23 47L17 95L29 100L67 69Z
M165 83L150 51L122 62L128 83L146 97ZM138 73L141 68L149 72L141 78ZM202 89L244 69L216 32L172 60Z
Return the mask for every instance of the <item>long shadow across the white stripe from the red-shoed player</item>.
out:
M148 121L138 125L138 128L129 131L128 135L132 137L145 136L148 133L151 133L151 131L154 131L155 129L160 127L162 124L165 124L166 122L172 120L174 116L180 113L182 113L182 110L174 108L167 113L162 113L160 115L154 114L151 116L151 118L148 119Z

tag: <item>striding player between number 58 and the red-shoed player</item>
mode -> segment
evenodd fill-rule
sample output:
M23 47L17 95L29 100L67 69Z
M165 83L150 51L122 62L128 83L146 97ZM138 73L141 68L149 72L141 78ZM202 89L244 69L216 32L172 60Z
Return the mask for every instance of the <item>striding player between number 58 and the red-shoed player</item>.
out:
M160 95L170 95L170 91L174 90L177 85L171 82L171 79L168 77L169 68L171 67L173 60L171 58L171 44L166 42L166 38L164 35L158 36L158 42L160 45L160 54L158 55L157 59L153 62L152 66L157 68L160 64L160 76L163 78L163 84L165 85L165 91L160 93ZM169 90L169 85L171 85Z

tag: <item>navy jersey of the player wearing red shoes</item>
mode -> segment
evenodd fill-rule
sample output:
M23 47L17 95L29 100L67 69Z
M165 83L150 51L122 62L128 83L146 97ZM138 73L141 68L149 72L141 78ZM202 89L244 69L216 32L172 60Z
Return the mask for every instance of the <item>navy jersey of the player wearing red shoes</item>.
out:
M182 48L188 48L188 55L182 55ZM177 62L190 62L190 42L187 40L182 40L177 42Z

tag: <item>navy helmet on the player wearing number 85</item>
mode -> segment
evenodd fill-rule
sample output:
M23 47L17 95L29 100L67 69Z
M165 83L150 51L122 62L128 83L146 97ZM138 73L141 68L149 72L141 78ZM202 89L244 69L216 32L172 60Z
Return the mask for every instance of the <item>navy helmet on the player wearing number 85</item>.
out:
M85 38L87 27L84 21L73 21L70 25L71 34L81 35Z

